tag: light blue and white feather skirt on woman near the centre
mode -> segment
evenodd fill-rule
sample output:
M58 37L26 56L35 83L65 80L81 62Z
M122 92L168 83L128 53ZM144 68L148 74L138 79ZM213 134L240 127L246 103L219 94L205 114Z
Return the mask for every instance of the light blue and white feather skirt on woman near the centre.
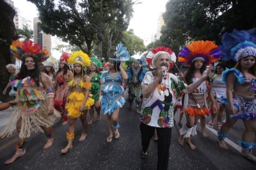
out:
M119 109L125 103L125 99L123 97L124 88L122 86L114 86L104 84L101 88L102 91L102 107L101 111L104 114L111 115L115 109Z

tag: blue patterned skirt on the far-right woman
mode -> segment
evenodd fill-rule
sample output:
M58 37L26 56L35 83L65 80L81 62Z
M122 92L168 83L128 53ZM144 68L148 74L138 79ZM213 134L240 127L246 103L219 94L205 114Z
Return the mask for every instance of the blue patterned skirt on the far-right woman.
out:
M221 98L221 102L228 105L227 98ZM233 104L237 110L237 114L230 115L230 118L256 120L256 103L254 102L254 98L241 97L233 93Z

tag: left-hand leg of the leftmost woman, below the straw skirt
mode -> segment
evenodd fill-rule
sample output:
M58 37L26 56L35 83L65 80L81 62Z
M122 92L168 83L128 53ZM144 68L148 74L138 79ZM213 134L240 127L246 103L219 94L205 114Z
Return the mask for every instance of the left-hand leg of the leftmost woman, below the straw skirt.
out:
M20 117L16 124L18 137L19 137L19 132L20 132L20 128L21 128L21 122L22 122L22 118ZM19 138L19 142L16 145L15 154L12 156L12 158L6 160L6 162L4 162L4 164L12 164L12 162L14 162L17 158L25 155L27 144L28 144L28 141L26 141L26 138L24 138L24 139Z

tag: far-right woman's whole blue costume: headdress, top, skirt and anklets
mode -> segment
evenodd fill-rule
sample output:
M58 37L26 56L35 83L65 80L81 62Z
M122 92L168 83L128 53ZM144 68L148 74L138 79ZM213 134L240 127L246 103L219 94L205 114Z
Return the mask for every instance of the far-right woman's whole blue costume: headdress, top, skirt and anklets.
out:
M225 33L222 36L221 56L223 61L229 61L230 59L239 62L241 59L248 56L252 56L256 59L256 37L255 31L248 33L247 31L234 31L230 34ZM253 70L255 71L255 70ZM250 86L251 91L256 91L256 80L246 78L243 73L235 68L227 69L222 73L223 82L227 82L228 74L234 72L236 82L234 86ZM242 119L242 120L256 120L256 104L253 98L246 98L236 93L233 93L233 104L237 109L236 115L230 115L231 118ZM227 98L221 98L226 105L228 105ZM245 132L244 132L245 133ZM248 135L248 134L246 134ZM220 141L225 140L228 133L221 134L218 132L218 139ZM243 138L243 137L242 137ZM243 139L244 140L244 139ZM248 139L246 139L248 140ZM253 141L239 141L239 145L242 151L252 153L252 148L255 146Z

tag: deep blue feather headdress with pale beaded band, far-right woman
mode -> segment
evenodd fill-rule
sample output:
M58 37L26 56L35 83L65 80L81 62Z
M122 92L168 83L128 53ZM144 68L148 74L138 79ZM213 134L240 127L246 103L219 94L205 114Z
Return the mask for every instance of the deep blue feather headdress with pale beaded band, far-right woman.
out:
M225 33L222 36L221 59L223 61L239 61L240 59L253 56L256 58L256 31L248 33L247 31L234 31L230 34Z

